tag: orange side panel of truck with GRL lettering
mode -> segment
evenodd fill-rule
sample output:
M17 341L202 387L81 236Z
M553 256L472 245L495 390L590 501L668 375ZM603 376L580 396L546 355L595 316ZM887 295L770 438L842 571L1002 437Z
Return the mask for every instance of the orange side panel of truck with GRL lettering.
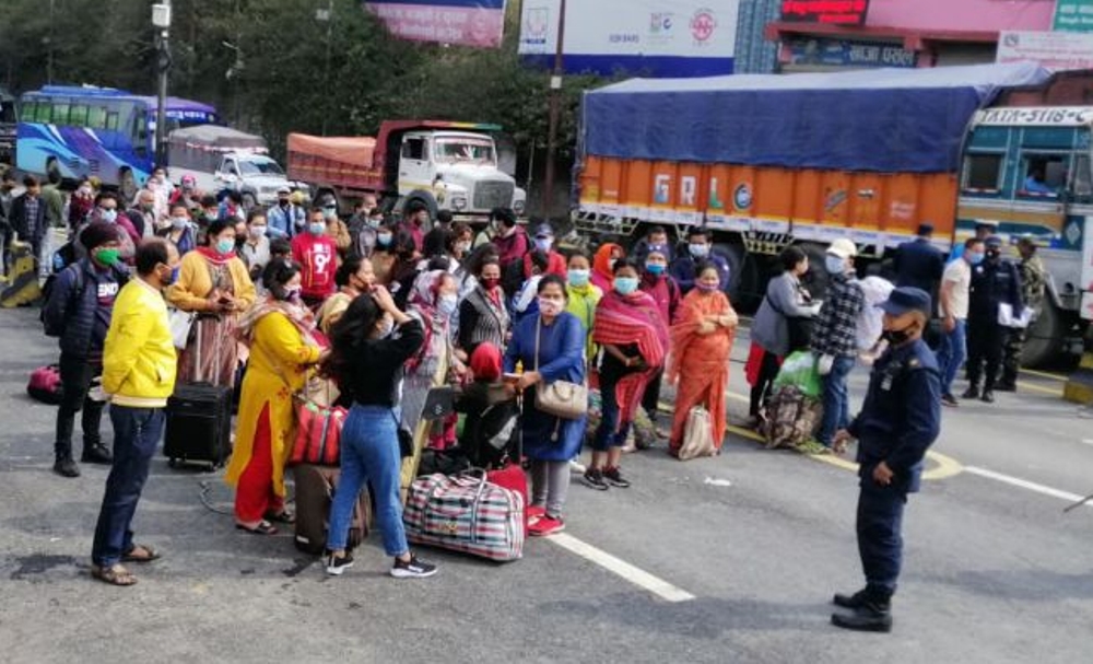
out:
M583 212L732 231L849 236L893 246L929 221L952 237L956 177L949 173L851 173L588 156Z

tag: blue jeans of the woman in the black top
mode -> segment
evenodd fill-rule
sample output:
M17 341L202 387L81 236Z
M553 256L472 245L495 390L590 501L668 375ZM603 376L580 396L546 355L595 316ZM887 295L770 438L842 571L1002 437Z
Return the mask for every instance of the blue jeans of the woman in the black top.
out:
M396 422L399 416L381 406L354 405L342 426L341 477L330 506L327 548L341 550L349 538L353 506L365 480L376 499L376 524L384 550L397 557L410 550L402 526L402 457Z

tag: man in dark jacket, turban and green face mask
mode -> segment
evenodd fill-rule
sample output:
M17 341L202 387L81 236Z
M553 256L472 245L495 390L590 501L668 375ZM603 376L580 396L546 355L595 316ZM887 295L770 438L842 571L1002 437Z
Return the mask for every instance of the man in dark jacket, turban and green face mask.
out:
M92 396L92 384L103 374L103 343L110 327L114 300L128 281L120 257L119 232L117 225L103 222L83 231L81 238L87 246L87 257L57 275L43 312L46 334L60 337L64 392L57 409L54 471L61 477L80 476L80 467L72 458L72 429L75 413L81 409L81 461L90 464L113 461L99 433L105 401Z

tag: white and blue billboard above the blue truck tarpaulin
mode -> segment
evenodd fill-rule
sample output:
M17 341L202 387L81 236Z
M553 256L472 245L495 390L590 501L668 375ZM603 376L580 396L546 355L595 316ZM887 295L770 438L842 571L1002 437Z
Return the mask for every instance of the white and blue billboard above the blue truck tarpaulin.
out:
M550 67L560 0L524 0L520 55ZM565 70L649 77L732 73L739 0L566 0Z

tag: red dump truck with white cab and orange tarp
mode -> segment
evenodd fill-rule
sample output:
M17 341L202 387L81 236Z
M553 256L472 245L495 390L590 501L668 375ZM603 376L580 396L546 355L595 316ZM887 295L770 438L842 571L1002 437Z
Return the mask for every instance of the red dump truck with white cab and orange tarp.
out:
M449 210L456 220L486 221L493 208L522 213L527 194L498 168L496 125L447 121L385 121L376 138L289 135L289 177L316 195L334 194L344 206L365 194L393 207L423 202L433 217Z

